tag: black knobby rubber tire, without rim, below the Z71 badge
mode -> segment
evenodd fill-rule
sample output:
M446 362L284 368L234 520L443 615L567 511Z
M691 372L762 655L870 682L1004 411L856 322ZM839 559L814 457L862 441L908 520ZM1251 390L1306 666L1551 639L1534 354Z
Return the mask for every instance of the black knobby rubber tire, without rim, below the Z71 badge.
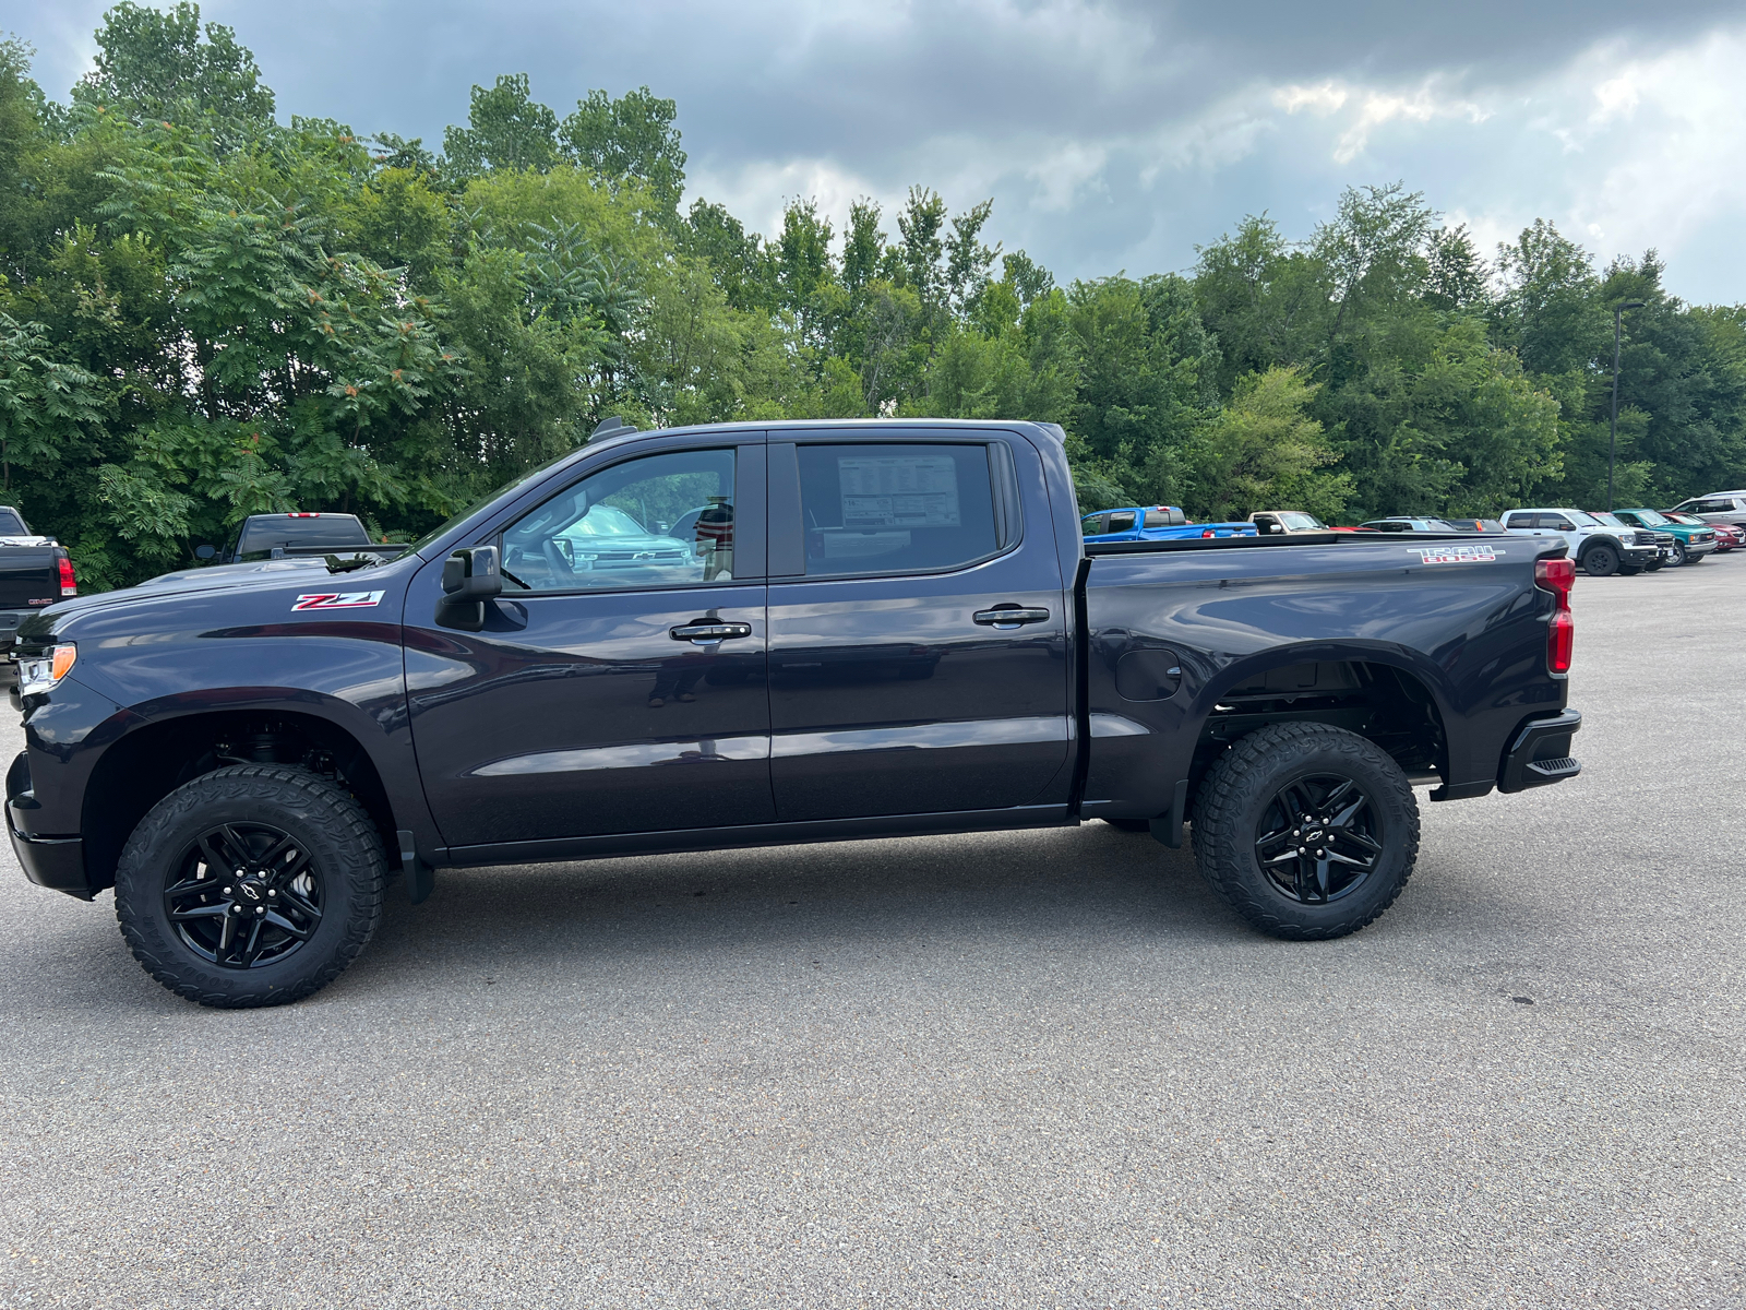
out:
M295 837L320 879L321 915L307 941L253 968L225 968L178 936L166 880L217 824L271 824ZM363 807L325 777L283 765L236 765L185 783L140 821L115 870L115 917L134 959L203 1006L288 1004L327 987L382 917L382 842Z

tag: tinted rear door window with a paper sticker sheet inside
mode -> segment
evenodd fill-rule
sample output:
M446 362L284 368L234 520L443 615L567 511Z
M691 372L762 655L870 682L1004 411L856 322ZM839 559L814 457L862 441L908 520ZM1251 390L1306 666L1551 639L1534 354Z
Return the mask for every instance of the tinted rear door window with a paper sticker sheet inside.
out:
M938 573L999 550L986 445L819 444L796 456L808 578ZM1124 531L1117 521L1105 531Z

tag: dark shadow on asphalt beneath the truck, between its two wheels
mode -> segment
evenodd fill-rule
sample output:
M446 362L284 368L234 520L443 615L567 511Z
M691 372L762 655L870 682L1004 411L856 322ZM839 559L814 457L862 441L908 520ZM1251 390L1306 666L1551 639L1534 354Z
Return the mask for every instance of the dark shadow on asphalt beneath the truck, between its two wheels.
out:
M1261 941L1187 851L1077 830L440 870L424 905L388 889L351 976L423 966L559 964L677 952L980 950L997 940ZM815 954L815 952L814 952ZM368 985L368 983L365 983Z

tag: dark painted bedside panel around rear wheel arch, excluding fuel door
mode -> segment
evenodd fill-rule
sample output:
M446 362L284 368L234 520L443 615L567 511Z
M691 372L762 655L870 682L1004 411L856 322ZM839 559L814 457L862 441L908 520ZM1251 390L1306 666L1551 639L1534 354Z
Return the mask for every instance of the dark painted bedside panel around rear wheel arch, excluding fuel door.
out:
M1084 812L1158 812L1189 777L1224 692L1269 669L1320 660L1411 672L1442 716L1447 781L1496 779L1512 730L1561 709L1566 679L1545 667L1556 603L1533 585L1542 548L1491 541L1500 559L1453 564L1426 564L1423 540L1093 559ZM1117 692L1117 660L1144 648L1179 657L1182 683L1168 699Z

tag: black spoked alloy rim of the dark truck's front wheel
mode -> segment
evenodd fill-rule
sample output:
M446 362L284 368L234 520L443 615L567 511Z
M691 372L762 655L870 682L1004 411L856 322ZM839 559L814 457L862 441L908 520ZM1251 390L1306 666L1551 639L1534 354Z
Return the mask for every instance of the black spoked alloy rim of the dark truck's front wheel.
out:
M321 870L272 824L220 823L194 838L169 879L164 914L176 936L222 969L286 959L321 927Z

